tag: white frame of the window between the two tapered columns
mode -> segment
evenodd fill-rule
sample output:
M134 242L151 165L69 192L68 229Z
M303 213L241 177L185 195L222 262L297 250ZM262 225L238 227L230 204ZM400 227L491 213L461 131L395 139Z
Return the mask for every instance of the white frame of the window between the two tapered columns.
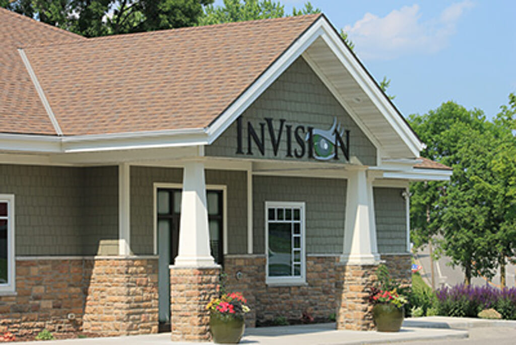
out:
M301 275L269 277L269 207L296 207L301 209ZM267 285L305 285L307 282L307 254L306 254L306 223L305 223L305 202L293 201L265 201L265 283Z

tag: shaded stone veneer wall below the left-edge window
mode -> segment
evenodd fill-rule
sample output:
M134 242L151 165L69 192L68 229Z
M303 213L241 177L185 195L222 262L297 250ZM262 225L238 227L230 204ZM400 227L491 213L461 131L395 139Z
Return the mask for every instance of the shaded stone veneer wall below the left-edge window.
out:
M16 295L0 296L0 333L79 331L88 277L85 261L17 260ZM75 320L68 320L74 313Z

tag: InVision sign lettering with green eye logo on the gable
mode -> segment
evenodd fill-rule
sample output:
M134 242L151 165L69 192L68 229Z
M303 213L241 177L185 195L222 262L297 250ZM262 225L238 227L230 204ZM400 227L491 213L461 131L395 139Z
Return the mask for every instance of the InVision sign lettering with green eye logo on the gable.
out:
M275 126L272 118L264 118L265 122L258 123L255 127L247 122L247 133L244 130L242 117L236 120L236 154L253 155L253 146L265 155L265 128L269 134L269 142L272 154L276 157L279 152L285 152L286 158L303 158L308 153L308 158L319 161L338 160L342 153L349 161L349 131L343 130L341 124L337 124L337 118L333 118L333 124L328 130L315 129L310 126L294 125L280 119L279 127ZM244 153L244 135L247 134L247 152ZM253 145L254 143L254 145ZM295 147L293 147L295 146ZM281 147L281 150L280 150Z

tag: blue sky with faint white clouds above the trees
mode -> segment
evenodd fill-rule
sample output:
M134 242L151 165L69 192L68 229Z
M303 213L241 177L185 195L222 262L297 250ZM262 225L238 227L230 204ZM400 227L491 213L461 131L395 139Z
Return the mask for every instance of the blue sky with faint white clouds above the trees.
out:
M281 0L287 13L304 0ZM217 0L215 4L221 4ZM488 118L516 92L516 1L312 0L348 33L402 114L453 100Z

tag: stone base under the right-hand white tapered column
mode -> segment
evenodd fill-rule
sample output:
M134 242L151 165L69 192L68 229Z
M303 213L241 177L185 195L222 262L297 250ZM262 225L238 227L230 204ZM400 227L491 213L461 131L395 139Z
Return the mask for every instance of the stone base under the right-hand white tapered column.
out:
M337 330L368 331L374 328L369 292L377 279L376 269L376 265L341 266Z

